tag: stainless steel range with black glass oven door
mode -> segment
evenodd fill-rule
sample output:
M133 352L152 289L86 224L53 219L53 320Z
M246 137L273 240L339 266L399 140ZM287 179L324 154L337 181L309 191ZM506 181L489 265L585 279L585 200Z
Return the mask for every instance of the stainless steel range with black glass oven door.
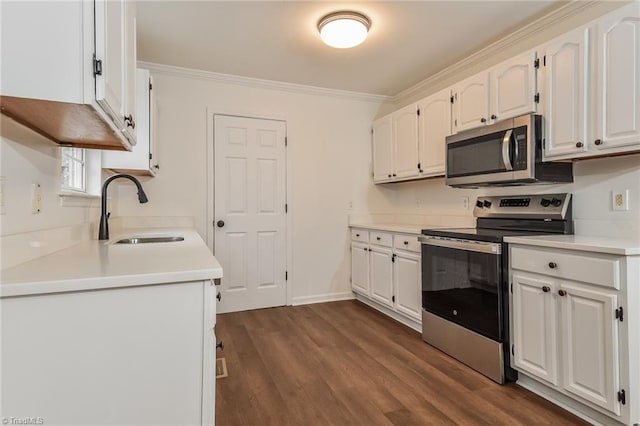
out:
M571 194L478 197L476 228L424 229L422 339L498 383L509 366L509 250L503 237L571 234Z

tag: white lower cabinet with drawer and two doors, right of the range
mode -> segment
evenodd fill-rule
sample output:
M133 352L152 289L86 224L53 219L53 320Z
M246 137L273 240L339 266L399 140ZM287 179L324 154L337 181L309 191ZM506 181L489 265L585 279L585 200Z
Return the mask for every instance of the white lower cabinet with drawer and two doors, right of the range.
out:
M638 422L637 259L521 245L510 258L512 367L591 417Z

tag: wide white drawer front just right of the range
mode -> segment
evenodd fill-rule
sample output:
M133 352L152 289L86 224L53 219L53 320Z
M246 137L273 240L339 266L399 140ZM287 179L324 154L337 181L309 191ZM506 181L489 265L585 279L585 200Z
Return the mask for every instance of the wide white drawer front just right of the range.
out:
M511 267L620 289L620 258L614 256L512 246Z

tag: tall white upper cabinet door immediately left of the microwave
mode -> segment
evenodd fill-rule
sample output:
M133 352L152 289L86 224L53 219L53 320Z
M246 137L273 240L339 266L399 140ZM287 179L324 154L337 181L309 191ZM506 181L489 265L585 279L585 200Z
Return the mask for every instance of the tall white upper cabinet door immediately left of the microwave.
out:
M420 173L441 176L445 171L445 138L451 135L451 89L445 89L418 102L420 110Z

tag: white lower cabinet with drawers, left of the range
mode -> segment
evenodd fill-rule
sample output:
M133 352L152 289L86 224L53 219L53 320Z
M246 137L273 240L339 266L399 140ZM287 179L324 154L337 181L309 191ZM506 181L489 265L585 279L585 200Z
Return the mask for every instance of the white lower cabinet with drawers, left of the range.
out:
M415 234L354 228L351 289L383 313L417 329L422 322L420 250Z

